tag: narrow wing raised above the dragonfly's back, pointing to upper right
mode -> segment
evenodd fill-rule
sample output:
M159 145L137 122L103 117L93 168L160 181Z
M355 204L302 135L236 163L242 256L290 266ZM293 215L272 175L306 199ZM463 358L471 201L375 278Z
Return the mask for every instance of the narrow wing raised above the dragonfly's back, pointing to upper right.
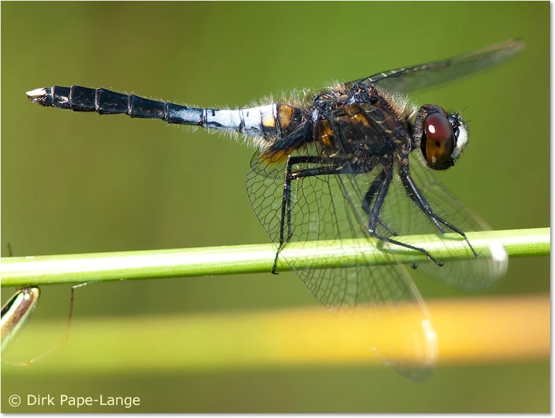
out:
M433 85L456 80L456 78L508 60L523 48L524 42L516 39L507 40L499 44L490 45L484 49L462 53L446 60L433 61L427 64L413 65L411 67L392 69L387 72L374 74L373 76L347 83L347 85L357 82L370 82L392 92L421 90Z

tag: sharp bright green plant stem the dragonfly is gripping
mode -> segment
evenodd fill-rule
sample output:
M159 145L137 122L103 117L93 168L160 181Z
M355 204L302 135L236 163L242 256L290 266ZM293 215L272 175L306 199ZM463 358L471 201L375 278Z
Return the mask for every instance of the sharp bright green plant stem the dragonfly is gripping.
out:
M536 228L467 235L478 252L487 251L490 242L495 241L503 244L511 257L546 256L550 252L549 231L550 228ZM413 235L406 241L444 261L474 257L468 244L456 234ZM360 249L364 249L364 258ZM311 269L426 260L418 251L383 242L368 245L365 240L291 243L282 255L287 258L289 251L295 251L296 259ZM274 258L275 249L271 244L2 258L0 286L260 273L271 271ZM282 258L277 267L278 271L289 270Z

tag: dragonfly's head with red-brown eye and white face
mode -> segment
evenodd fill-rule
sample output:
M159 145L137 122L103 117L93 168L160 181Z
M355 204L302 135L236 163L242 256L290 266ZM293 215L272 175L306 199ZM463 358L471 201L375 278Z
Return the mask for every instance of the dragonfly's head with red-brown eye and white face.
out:
M434 104L418 110L414 134L428 167L434 170L454 166L468 144L468 126L461 115L448 114Z

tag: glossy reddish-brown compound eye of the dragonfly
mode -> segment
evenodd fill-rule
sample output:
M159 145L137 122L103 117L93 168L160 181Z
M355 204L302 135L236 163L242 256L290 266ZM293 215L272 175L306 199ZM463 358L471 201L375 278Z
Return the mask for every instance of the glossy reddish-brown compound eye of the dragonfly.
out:
M425 157L429 167L443 170L453 165L451 155L455 147L453 126L447 117L435 112L426 118L424 123L426 131Z

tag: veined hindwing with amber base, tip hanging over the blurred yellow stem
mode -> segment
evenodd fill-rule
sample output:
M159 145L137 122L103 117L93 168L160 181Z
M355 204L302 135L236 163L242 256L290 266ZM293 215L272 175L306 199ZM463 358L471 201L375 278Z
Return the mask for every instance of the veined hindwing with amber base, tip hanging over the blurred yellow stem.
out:
M290 146L285 138L276 149ZM280 242L282 228L289 229L287 219L291 219L291 239L296 249L310 242L318 246L324 240L348 240L361 238L361 243L341 241L339 251L357 251L361 260L371 256L363 246L374 245L366 232L366 215L361 209L361 190L368 185L360 185L353 174L306 176L291 183L290 210L284 208L284 178L287 158L322 156L319 145L311 142L288 153L255 155L246 178L247 192L260 223L276 244ZM326 160L330 162L330 160ZM323 164L320 164L322 166ZM325 165L325 164L324 164ZM314 163L298 162L291 166L292 172L312 169ZM367 176L365 181L369 181ZM355 203L356 202L356 203ZM286 205L287 207L287 205ZM290 212L288 215L287 212ZM285 226L282 226L282 214ZM368 267L364 263L356 267L328 269L300 268L298 251L284 246L281 256L291 269L300 276L309 290L328 308L341 308L341 316L349 316L357 306L380 306L388 315L395 315L401 307L409 308L410 326L404 329L403 352L418 353L420 360L415 364L409 360L388 362L400 374L413 381L422 381L436 358L436 340L429 315L418 290L413 285L402 265ZM405 303L402 303L405 302ZM384 315L382 309L381 315ZM383 316L368 317L368 321L380 321ZM405 315L406 317L406 315ZM386 343L375 341L377 351L384 358L394 358L393 350ZM368 347L370 349L370 346ZM398 353L398 347L395 349ZM413 356L411 356L413 357Z

